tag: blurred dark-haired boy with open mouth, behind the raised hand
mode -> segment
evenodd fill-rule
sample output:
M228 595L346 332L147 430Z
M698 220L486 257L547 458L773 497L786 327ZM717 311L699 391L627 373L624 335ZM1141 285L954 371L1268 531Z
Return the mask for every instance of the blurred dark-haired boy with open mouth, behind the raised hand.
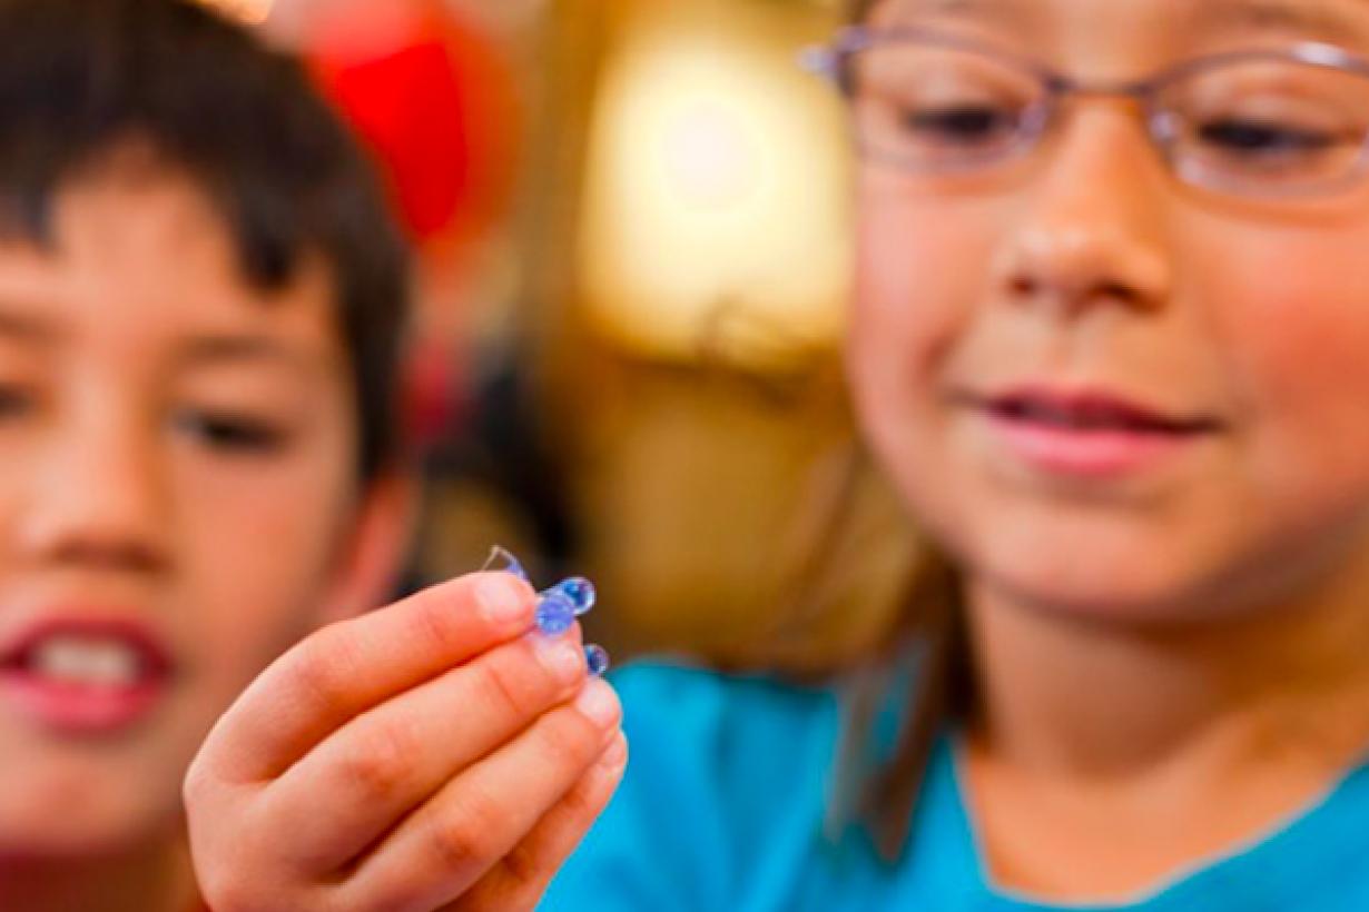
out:
M0 908L181 909L179 789L404 533L402 243L290 60L0 0Z

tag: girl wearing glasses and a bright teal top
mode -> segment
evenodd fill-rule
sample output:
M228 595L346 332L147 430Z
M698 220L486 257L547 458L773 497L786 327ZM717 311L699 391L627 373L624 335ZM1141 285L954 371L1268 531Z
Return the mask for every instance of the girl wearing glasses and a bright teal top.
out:
M1369 908L1366 55L1333 0L878 0L815 55L921 572L828 680L623 671L545 908Z

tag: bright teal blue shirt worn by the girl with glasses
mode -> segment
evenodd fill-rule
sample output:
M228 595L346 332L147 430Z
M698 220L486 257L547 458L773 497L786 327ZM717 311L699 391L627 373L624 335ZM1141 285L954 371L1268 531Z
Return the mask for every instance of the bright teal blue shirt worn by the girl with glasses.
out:
M1369 767L1247 849L1120 907L1051 907L995 887L950 742L932 757L913 850L883 864L827 838L834 690L671 666L616 675L631 762L542 901L548 912L1369 912Z

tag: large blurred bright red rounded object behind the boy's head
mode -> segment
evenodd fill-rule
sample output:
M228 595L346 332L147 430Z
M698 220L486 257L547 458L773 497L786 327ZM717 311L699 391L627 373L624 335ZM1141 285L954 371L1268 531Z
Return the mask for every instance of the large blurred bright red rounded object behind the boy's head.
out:
M441 3L387 0L345 4L304 51L381 159L420 245L460 242L504 212L520 104L490 37Z

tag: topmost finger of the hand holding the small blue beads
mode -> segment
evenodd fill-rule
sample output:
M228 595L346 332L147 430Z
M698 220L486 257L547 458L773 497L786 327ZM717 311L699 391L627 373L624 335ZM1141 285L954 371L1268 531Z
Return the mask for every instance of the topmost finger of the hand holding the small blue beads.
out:
M361 712L526 633L535 603L511 573L472 573L326 626L248 686L201 760L233 782L275 778Z

